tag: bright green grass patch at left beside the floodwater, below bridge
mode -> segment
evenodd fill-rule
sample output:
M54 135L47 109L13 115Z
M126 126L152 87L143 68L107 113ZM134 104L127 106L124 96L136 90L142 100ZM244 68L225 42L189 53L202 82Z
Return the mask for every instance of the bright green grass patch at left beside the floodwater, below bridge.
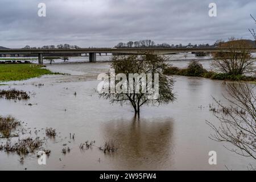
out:
M27 80L42 75L56 74L43 65L35 64L0 64L0 81Z

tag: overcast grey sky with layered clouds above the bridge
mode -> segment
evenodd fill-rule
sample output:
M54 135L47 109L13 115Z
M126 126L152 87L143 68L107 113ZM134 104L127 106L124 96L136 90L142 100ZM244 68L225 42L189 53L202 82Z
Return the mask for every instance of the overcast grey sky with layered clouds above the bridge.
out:
M46 17L38 4L46 4ZM209 17L209 3L217 17ZM0 46L72 44L113 47L118 42L213 43L252 39L255 0L1 0Z

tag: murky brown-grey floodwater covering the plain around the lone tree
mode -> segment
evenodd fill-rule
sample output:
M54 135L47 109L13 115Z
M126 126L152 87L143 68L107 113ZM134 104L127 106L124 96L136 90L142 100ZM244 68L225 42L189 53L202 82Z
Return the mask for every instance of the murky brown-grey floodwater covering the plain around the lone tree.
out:
M187 64L185 60L174 62L180 67ZM203 63L209 65L209 60ZM212 96L225 103L222 81L174 76L177 100L144 106L138 119L133 117L131 106L109 104L98 97L97 75L110 69L108 62L52 64L47 68L70 75L46 75L0 86L21 89L31 96L28 101L1 99L1 115L11 114L27 123L32 137L36 137L35 130L40 130L37 136L43 138L42 129L56 129L57 137L46 142L45 148L51 150L47 164L40 166L35 154L27 155L20 164L18 155L2 151L1 170L247 170L249 164L255 165L253 159L226 150L223 145L230 147L228 144L209 139L213 131L205 120L217 123L209 104L214 103ZM74 140L70 133L75 133ZM86 140L95 140L94 146L80 150L80 143ZM113 154L98 149L108 140L118 146ZM0 139L2 142L6 140ZM64 147L70 147L71 152L62 154ZM209 151L217 152L217 165L209 165Z

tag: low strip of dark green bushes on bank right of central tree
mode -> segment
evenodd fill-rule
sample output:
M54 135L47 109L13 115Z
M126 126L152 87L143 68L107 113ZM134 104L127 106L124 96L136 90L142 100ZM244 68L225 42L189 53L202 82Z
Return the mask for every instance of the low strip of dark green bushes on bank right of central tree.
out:
M216 73L213 71L207 71L197 61L192 61L191 63L189 63L187 68L169 67L164 70L164 74L180 75L180 76L196 76L196 77L210 78L212 80L232 80L232 81L256 82L255 76L229 75L227 73Z

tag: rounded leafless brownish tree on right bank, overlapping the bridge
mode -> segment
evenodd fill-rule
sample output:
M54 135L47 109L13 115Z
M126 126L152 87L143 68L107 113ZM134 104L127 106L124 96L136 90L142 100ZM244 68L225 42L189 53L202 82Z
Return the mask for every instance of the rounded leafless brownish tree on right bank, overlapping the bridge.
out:
M221 51L213 54L212 67L228 75L243 75L255 72L255 59L251 57L251 44L247 40L230 39L221 43Z

